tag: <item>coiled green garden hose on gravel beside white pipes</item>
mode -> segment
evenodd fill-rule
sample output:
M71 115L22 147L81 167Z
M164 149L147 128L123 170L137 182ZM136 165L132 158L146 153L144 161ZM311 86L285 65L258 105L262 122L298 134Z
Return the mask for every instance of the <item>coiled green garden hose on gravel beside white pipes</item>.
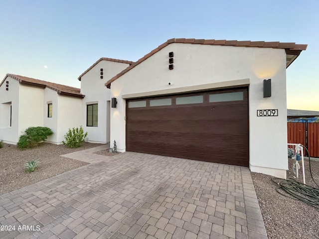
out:
M304 145L302 146L306 148ZM306 150L308 152L308 155L310 155L307 148ZM310 169L310 175L312 179L314 180L315 184L319 187L311 171L310 156L309 156L309 169ZM281 195L295 199L295 200L303 201L319 209L319 188L314 188L312 186L303 184L293 178L289 178L287 180L283 180L281 178L273 178L272 180L274 183L280 186L279 188L277 188L277 192L280 193ZM286 194L284 194L283 192L285 192Z

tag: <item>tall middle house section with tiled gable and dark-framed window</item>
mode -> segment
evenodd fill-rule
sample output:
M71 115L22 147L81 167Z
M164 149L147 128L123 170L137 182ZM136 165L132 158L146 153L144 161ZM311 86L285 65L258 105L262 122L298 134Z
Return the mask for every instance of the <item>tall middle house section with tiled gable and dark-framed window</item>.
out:
M132 61L113 58L100 58L78 80L81 81L82 100L81 125L88 132L88 141L92 143L110 142L110 90L104 86L130 65Z

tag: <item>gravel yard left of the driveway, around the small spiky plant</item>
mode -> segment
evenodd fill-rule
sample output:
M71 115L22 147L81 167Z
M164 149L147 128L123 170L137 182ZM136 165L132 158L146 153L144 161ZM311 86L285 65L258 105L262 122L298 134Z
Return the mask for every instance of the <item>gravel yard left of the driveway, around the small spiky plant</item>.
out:
M59 155L100 145L103 144L84 142L80 148L68 148L41 143L32 149L19 150L15 145L3 143L0 148L0 195L84 166L88 163ZM39 161L39 167L33 173L24 171L24 163L30 160Z

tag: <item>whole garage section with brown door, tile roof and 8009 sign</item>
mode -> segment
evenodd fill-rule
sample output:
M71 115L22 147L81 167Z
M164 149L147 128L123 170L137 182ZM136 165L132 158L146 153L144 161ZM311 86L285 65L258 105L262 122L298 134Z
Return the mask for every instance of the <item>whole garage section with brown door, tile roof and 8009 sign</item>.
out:
M306 48L170 39L105 83L117 101L110 139L120 152L247 166L286 178L286 68Z

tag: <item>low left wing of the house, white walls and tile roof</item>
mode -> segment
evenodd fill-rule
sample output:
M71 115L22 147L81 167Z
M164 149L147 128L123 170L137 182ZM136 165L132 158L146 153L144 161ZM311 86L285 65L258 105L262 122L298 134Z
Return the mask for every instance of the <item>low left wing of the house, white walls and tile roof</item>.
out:
M0 83L0 140L16 144L30 126L46 126L47 141L61 143L68 128L81 123L80 89L7 74Z

